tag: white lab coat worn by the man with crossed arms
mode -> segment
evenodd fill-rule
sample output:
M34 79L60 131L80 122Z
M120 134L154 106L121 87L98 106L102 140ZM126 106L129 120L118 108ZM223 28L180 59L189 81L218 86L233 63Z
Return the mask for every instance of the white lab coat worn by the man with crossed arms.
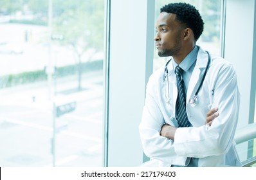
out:
M164 123L178 127L175 118L178 91L172 62L168 65L170 105L165 103L164 67L149 78L140 136L146 156L158 159L160 167L185 165L187 157L199 158L199 167L241 166L233 140L240 95L232 64L212 55L205 81L197 95L198 104L192 107L188 103L196 93L207 61L208 54L199 47L187 89L187 115L193 127L178 128L174 141L160 136ZM219 108L219 116L211 126L205 125L206 113L214 107Z

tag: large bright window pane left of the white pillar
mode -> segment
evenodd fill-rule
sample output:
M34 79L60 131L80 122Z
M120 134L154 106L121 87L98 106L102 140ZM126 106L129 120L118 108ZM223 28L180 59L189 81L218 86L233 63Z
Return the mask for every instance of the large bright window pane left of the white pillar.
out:
M0 167L101 167L104 0L0 1Z

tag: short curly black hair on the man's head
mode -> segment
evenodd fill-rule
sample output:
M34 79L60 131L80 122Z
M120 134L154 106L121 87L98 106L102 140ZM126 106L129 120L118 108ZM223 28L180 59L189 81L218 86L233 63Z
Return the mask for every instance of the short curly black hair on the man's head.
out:
M170 3L163 6L160 12L176 14L176 20L181 22L181 24L185 24L187 28L190 28L196 40L199 39L203 33L203 19L198 10L191 4Z

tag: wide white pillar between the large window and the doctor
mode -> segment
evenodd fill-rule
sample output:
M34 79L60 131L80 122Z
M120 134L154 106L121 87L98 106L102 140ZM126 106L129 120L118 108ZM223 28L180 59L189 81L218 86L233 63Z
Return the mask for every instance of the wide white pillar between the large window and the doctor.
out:
M152 73L154 1L111 0L107 167L143 162L138 132L145 85Z

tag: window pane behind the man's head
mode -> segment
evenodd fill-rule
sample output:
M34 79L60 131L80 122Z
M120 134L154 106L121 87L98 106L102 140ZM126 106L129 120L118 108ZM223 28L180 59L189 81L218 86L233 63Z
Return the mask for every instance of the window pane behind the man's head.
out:
M205 22L205 28L201 37L197 40L197 45L203 49L221 55L221 0L187 0L187 1L175 1L175 0L157 0L156 1L156 15L157 18L160 14L160 8L169 3L190 3L199 10L203 21ZM170 57L158 57L158 51L154 51L154 70L163 66Z

